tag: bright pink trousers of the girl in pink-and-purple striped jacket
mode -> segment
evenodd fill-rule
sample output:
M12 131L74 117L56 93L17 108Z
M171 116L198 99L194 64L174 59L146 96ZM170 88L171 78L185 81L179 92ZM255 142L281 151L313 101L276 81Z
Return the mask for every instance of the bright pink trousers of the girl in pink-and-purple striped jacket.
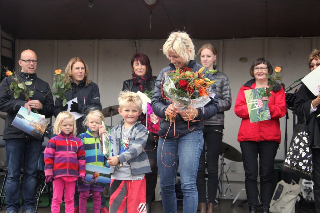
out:
M53 198L51 204L51 213L60 212L60 204L62 203L62 196L64 190L64 202L66 203L66 213L73 213L74 211L74 195L76 181L67 182L61 179L60 177L54 179L52 182L53 185Z

